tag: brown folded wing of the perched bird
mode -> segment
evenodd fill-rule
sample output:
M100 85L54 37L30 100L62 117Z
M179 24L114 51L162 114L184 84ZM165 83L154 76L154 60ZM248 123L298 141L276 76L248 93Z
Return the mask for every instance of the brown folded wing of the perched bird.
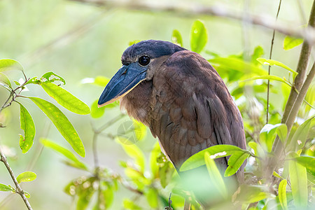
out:
M151 132L179 169L217 144L245 147L240 113L218 73L195 52L181 51L153 77ZM227 167L225 158L216 160Z

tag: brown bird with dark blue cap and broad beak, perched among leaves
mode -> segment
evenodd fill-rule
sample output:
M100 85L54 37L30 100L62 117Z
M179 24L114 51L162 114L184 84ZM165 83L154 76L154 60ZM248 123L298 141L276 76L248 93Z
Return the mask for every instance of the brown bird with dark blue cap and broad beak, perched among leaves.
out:
M119 99L120 108L158 137L161 151L180 176L205 171L179 169L206 148L230 144L246 149L241 113L223 79L200 54L168 41L146 40L128 47L121 62L123 66L106 85L98 106ZM228 167L228 158L215 161L223 170ZM239 182L244 179L244 164L236 176ZM207 190L203 183L195 185L197 179L190 180L190 186ZM209 193L201 192L194 193L207 209Z

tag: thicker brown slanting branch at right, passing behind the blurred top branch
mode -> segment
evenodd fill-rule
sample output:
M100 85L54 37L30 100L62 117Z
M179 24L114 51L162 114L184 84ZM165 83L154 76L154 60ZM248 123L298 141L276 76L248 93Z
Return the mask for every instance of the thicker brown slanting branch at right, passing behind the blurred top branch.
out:
M309 28L315 27L315 1L313 2L313 6L311 8L311 15L309 16ZM283 117L281 123L286 123L288 115L293 107L295 99L297 98L297 91L300 91L302 87L302 83L304 81L305 75L307 73L307 66L309 64L309 57L311 55L311 47L307 41L303 42L302 49L300 52L299 62L297 64L297 76L295 77L293 87L291 88L290 95L288 97L288 102L286 103L286 108L284 109Z

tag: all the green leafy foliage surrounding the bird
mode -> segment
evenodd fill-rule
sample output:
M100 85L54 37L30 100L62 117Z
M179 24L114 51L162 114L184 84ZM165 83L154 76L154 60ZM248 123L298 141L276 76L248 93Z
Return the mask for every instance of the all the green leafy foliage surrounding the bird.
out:
M213 31L210 31L210 33L213 33ZM172 41L185 47L183 45L185 38L183 37L180 31L176 29L172 33ZM137 41L131 42L131 44L135 42ZM209 177L215 183L216 191L225 197L226 200L230 200L231 208L235 204L241 204L242 209L248 208L249 205L254 205L255 209L299 209L311 207L314 200L315 118L311 116L310 110L313 108L308 104L314 104L314 97L306 99L307 103L304 106L307 106L309 111L300 113L298 116L299 120L297 120L292 130L288 130L286 125L281 123L283 110L276 106L279 103L276 101L269 102L270 120L266 124L262 120L266 115L266 100L265 96L261 94L267 90L266 81L270 81L271 91L279 92L276 88L276 85L279 84L276 83L281 82L288 87L293 87L293 83L290 81L294 80L297 72L282 62L263 58L264 50L261 46L253 49L250 57L246 57L244 53L221 56L215 52L207 51L205 49L207 43L207 27L202 21L196 20L190 32L190 49L198 53L206 53L209 56L209 62L230 87L230 92L235 98L244 118L244 129L248 146L247 150L231 145L211 146L186 160L181 167L181 171L206 165ZM283 48L290 50L299 43L301 41L298 39L286 37L284 38ZM276 75L267 75L264 65L279 67L279 69L288 72L288 77L281 78ZM66 118L66 115L57 106L45 99L22 94L27 85L36 85L37 87L40 85L50 97L55 99L65 109L80 115L90 113L92 122L98 118L105 121L104 125L98 128L93 127L93 144L97 144L99 135L104 135L106 139L116 140L115 142L130 157L130 161L120 161L120 167L124 172L118 174L113 169L99 165L96 151L93 151L92 154L95 163L94 167L90 167L76 153L56 144L54 141L41 139L43 146L62 155L66 165L80 170L81 174L76 178L72 178L64 188L64 192L73 197L76 209L114 209L113 201L115 199L120 200L121 206L125 209L163 209L171 203L169 201L170 193L172 193L171 207L173 209L183 208L185 199L192 200L192 209L200 209L200 205L193 202L193 195L183 190L178 174L165 155L160 152L158 144L152 147L150 159L149 161L146 160L144 151L137 144L146 137L146 127L144 125L137 121L132 121L130 126L123 127L123 132L118 134L106 131L107 128L121 123L121 119L127 119L125 115L111 120L105 117L107 111L118 109L118 102L98 109L96 100L91 103L90 109L84 102L61 87L61 83L63 85L66 83L61 76L53 72L47 72L39 78L27 78L25 76L22 83L17 81L11 83L10 80L12 78L10 78L10 75L6 75L6 72L13 70L21 71L23 76L25 76L25 70L19 62L13 59L0 59L0 85L9 92L8 100L1 107L1 111L8 108L12 103L19 104L20 127L24 131L24 136L20 135L19 139L22 153L27 153L31 149L36 133L36 125L34 125L31 113L25 108L27 103L22 100L22 98L27 98L48 116L71 148L78 155L85 157L83 143L76 129ZM97 85L99 88L104 87L108 82L109 78L104 76L81 80L83 84ZM88 88L89 86L85 85L85 87ZM255 97L246 94L248 90ZM283 88L281 94L288 95L286 87ZM261 109L261 107L263 108ZM255 109L258 109L258 111L255 111ZM280 141L276 141L276 138L279 138ZM275 156L273 148L277 143L283 146L285 158L277 165L273 176L266 177L265 162ZM87 153L87 155L90 154ZM228 168L222 174L214 160L226 156L230 156ZM225 177L233 176L237 173L239 167L246 160L245 183L237 189L232 197L229 197ZM87 172L88 174L86 174ZM33 181L34 179L36 179L34 172L23 172L17 177L18 183ZM121 188L128 190L131 196L118 197L117 192ZM18 193L15 188L3 183L0 183L0 190ZM28 193L26 195L29 196ZM145 201L145 204L144 202L139 202L139 200Z

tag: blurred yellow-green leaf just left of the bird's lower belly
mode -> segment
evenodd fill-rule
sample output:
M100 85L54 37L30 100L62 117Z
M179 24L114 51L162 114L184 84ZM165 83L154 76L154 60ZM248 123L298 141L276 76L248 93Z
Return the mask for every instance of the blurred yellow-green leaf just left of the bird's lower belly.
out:
M123 149L127 155L129 155L131 158L134 158L136 165L139 167L139 170L144 172L146 158L144 157L144 153L141 151L141 149L135 144L127 143L128 140L124 139L124 137L117 137L117 140L117 142L123 146Z

